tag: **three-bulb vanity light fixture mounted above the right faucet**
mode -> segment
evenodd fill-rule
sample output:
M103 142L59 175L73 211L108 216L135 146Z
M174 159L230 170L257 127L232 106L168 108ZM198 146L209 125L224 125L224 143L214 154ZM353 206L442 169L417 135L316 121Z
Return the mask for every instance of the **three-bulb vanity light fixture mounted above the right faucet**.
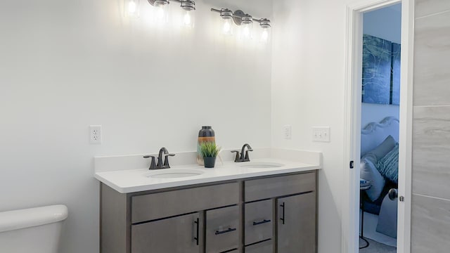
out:
M259 22L259 26L262 27L261 40L266 42L269 40L269 28L270 20L267 18L255 19L252 15L244 13L243 11L231 11L228 8L221 8L220 10L216 8L211 8L212 12L220 13L220 17L222 18L221 25L221 33L226 35L233 34L233 26L231 24L231 20L236 25L242 27L241 37L243 39L251 39L252 38L252 26L253 21Z

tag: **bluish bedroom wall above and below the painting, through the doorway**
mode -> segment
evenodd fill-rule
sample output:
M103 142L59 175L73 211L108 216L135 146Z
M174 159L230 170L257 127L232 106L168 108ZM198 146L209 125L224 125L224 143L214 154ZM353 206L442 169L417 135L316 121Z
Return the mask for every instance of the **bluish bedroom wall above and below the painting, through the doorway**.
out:
M401 4L380 8L364 13L364 34L401 43ZM399 105L379 105L362 103L361 126L370 122L380 122L385 117L399 119Z

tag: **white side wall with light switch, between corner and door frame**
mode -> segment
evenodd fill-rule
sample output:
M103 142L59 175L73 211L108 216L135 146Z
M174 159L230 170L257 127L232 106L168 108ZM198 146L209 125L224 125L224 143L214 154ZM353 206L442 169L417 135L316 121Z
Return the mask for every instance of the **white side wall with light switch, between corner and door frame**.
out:
M352 0L274 1L272 145L323 152L319 171L319 252L340 252L343 169L345 6ZM292 139L283 139L283 125ZM312 142L330 126L331 142Z

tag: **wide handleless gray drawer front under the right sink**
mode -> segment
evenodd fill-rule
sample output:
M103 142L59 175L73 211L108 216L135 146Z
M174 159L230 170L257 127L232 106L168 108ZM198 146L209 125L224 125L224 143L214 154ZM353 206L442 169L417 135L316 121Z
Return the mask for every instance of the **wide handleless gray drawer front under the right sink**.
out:
M245 181L245 202L316 190L316 172Z

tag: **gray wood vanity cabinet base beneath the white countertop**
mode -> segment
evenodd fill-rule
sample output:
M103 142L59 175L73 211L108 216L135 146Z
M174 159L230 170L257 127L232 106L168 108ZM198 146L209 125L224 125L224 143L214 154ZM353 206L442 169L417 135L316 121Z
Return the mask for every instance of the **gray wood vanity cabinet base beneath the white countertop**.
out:
M101 253L316 253L317 172L145 192L101 183Z

